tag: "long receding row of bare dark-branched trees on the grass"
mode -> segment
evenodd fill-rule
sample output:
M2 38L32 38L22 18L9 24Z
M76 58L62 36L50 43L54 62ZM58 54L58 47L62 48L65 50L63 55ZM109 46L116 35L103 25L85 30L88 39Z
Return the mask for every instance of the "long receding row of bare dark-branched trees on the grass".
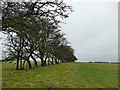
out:
M72 7L59 0L36 2L2 2L2 30L7 35L4 59L16 61L16 70L25 63L32 68L77 60L59 24L72 12Z

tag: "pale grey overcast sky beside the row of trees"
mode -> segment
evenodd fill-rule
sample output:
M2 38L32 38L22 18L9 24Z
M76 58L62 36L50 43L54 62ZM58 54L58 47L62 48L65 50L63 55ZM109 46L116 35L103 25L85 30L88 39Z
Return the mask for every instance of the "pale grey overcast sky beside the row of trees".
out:
M78 61L118 60L117 1L66 0L74 12L64 20L61 30L75 49ZM0 59L1 50L0 45Z

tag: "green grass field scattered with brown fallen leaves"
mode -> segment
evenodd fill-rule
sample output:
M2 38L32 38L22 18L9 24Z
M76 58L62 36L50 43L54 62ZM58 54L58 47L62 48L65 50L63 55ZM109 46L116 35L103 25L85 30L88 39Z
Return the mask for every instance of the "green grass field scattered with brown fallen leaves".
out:
M22 71L2 64L3 88L117 88L118 65L60 63Z

